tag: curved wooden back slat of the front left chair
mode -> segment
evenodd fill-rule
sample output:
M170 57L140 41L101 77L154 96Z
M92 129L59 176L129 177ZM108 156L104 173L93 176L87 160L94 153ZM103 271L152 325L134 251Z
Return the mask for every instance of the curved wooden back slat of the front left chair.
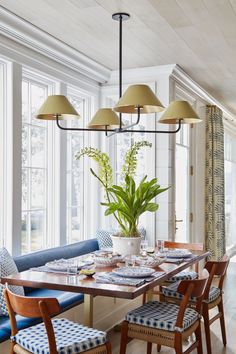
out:
M47 305L49 316L57 315L60 312L60 305L57 299L54 298L33 298L16 295L6 285L5 292L9 298L10 306L14 313L23 317L40 317L42 314L39 307L39 302L43 301Z

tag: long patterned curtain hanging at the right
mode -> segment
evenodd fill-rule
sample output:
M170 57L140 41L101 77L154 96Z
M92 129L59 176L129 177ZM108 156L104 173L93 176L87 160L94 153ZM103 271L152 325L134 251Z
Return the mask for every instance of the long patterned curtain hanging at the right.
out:
M222 111L206 107L206 248L210 259L225 254L224 127Z

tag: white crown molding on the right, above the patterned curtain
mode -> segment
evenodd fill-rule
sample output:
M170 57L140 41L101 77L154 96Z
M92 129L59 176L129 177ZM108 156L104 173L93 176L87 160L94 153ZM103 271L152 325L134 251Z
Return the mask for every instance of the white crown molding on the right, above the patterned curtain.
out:
M188 74L186 74L186 72L179 65L174 66L173 72L170 77L179 84L183 85L189 91L194 92L198 97L206 101L206 103L219 107L223 112L224 119L228 122L236 124L235 114L233 114L214 96L204 90L196 81L194 81Z

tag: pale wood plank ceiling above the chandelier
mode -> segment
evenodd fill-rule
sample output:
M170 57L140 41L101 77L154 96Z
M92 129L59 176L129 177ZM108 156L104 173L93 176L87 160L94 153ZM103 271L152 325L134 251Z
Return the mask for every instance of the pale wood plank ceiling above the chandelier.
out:
M0 0L0 5L110 69L179 64L236 114L236 0Z

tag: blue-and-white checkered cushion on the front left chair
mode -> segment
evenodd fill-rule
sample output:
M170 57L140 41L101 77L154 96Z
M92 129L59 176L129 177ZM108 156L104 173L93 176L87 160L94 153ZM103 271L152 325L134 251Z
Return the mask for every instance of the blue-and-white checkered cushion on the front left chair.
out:
M82 353L106 342L106 333L65 318L52 320L59 354ZM17 344L35 354L50 354L44 323L19 331L12 337Z

